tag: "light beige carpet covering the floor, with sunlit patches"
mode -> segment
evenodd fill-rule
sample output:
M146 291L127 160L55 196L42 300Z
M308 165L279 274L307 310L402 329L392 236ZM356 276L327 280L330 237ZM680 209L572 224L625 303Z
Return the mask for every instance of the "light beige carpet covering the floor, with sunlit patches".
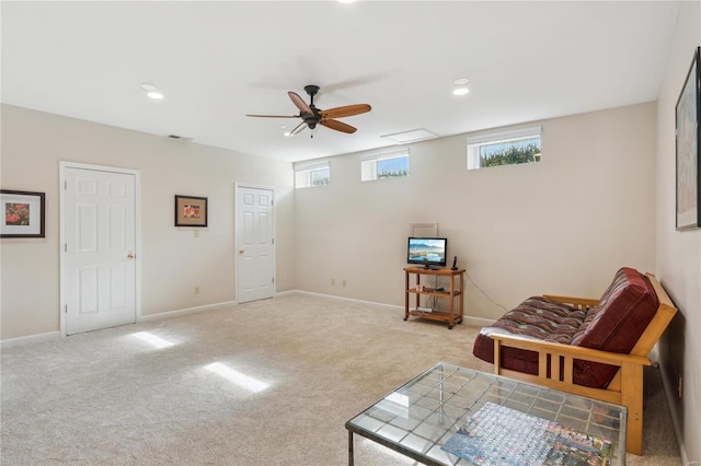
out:
M290 294L8 348L0 461L347 464L345 422L397 386L438 361L491 372L472 356L478 331ZM644 456L628 464L680 465L658 370L645 377ZM357 465L414 464L365 439L355 453Z

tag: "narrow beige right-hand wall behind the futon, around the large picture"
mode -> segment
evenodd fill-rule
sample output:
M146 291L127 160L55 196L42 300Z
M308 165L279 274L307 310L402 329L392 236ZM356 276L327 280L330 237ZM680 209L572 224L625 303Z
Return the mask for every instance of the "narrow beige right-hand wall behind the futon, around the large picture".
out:
M701 462L701 230L675 230L675 105L693 49L700 2L682 2L657 112L657 276L679 314L659 345L670 410L686 461ZM678 395L681 377L681 398Z

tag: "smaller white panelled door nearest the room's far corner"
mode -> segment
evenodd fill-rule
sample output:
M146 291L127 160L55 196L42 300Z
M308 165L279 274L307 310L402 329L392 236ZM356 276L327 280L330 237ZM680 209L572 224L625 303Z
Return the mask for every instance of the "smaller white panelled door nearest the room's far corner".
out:
M273 191L237 188L237 243L239 249L239 303L273 298L275 240Z

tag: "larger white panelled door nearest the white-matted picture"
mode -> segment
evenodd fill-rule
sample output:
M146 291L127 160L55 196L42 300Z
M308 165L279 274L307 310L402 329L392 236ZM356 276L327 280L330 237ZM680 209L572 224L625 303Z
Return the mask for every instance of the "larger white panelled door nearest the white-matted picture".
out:
M66 167L66 335L136 322L136 176Z

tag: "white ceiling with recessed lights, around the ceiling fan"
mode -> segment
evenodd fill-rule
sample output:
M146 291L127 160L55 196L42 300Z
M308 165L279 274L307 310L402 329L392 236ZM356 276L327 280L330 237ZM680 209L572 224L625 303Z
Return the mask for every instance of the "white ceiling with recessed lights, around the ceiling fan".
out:
M1 3L2 102L286 161L657 98L670 1ZM470 93L452 95L468 78ZM165 98L140 89L156 84ZM287 96L367 103L294 138Z

